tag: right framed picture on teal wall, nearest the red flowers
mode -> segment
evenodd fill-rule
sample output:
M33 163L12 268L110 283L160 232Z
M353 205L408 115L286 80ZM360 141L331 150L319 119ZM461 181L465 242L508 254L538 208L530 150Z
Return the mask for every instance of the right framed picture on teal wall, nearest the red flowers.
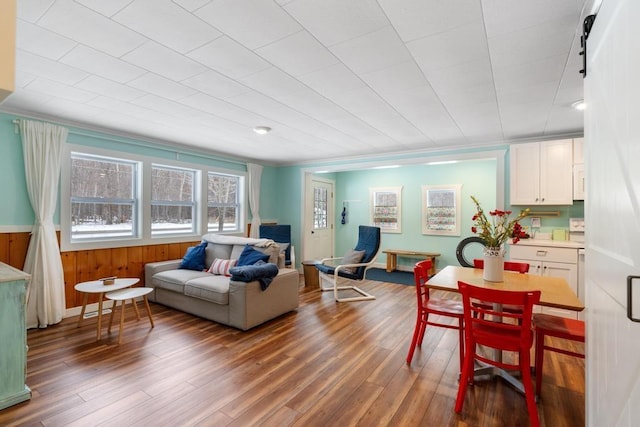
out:
M422 234L459 236L462 185L422 186Z

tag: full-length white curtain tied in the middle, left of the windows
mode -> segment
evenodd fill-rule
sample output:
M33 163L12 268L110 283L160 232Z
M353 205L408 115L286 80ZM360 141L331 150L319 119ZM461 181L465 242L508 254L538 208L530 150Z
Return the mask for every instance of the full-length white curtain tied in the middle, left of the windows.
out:
M68 130L49 123L20 120L24 169L36 221L24 263L31 275L27 292L27 327L46 328L62 320L64 273L53 225L60 164Z

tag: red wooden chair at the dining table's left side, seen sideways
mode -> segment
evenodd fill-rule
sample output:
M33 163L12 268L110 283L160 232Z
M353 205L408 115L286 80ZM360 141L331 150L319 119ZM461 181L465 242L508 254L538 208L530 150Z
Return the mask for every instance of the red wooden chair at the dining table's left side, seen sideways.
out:
M439 326L442 328L457 329L460 335L460 369L462 369L462 361L464 360L464 338L463 338L463 310L459 301L449 300L445 298L430 298L429 288L424 284L429 279L428 271L431 268L431 260L424 260L416 263L413 268L413 276L416 281L416 296L418 299L416 327L413 331L413 339L407 354L407 364L411 364L413 352L418 347L422 347L422 339L427 329L427 325ZM458 320L457 324L447 324L434 322L429 319L429 315L435 314L440 316L454 317Z

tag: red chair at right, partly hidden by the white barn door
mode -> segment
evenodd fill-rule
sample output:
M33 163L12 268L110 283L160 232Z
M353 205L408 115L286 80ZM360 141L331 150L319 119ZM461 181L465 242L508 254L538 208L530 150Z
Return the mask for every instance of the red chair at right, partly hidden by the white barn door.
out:
M542 392L542 365L544 363L545 350L584 359L583 353L546 345L544 338L556 337L584 343L584 322L582 320L567 319L550 314L534 314L533 324L536 331L536 395L540 396Z

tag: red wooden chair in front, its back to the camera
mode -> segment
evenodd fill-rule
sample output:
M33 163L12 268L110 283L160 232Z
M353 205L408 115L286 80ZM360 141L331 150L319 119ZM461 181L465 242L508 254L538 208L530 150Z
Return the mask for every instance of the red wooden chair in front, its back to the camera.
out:
M520 370L529 419L532 426L538 427L540 422L531 380L531 355L529 352L533 345L531 314L533 305L540 301L540 291L503 291L480 288L464 282L458 282L458 289L462 294L464 307L465 358L458 385L455 411L457 413L462 411L467 387L473 383L474 363L479 360L501 369ZM472 301L476 300L492 304L491 308L485 308L486 306L482 304L472 304ZM504 304L519 306L521 311L508 313L493 308ZM518 364L514 365L503 362L501 359L493 360L485 357L478 353L478 345L498 351L515 352L518 354Z

